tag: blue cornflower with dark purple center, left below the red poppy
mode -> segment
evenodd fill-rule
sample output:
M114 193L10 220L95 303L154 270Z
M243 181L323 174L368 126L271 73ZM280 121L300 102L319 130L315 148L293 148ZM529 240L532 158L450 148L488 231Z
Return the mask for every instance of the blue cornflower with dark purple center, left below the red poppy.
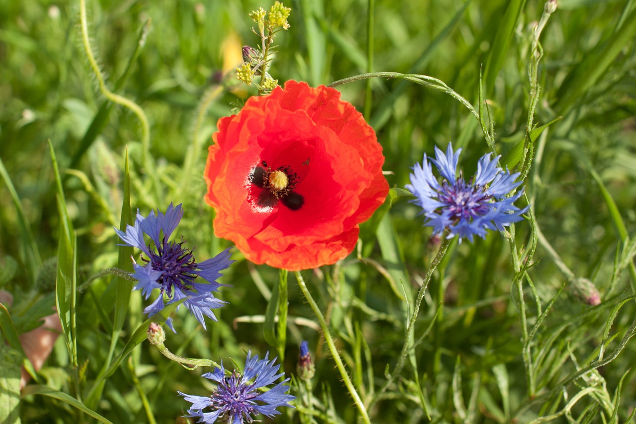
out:
M172 232L176 229L183 216L181 204L173 206L170 203L165 214L151 211L148 216L142 216L137 211L135 225L128 225L126 231L115 229L117 235L124 242L121 246L132 246L141 249L147 258L142 257L145 265L133 264L133 278L138 280L133 290L141 290L146 299L154 288L160 288L159 297L150 304L144 313L153 316L163 309L166 304L177 302L187 298L183 305L190 310L190 313L197 318L198 322L205 327L204 315L216 321L216 316L212 309L223 306L227 302L216 299L212 292L217 292L219 287L227 286L219 284L216 279L221 277L221 270L234 262L230 260L229 248L222 251L216 257L196 262L192 255L193 250L183 247L185 241L176 243L168 241ZM163 236L161 233L163 232ZM146 245L144 234L150 236L155 246ZM200 277L207 283L195 282ZM177 310L181 305L177 306ZM172 327L172 318L166 320L167 325ZM175 331L176 332L176 331Z

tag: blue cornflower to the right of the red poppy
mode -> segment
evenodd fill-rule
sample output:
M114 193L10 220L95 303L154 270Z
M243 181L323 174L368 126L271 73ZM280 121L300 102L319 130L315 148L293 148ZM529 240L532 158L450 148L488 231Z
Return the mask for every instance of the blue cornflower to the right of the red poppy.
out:
M473 236L485 238L487 230L503 230L512 222L522 220L522 213L528 208L519 209L514 202L521 197L523 189L507 197L521 185L515 181L519 173L510 174L497 166L499 156L490 159L491 153L481 157L477 172L470 181L464 180L462 173L456 177L459 153L453 152L448 143L446 155L435 147L436 159L430 161L424 154L422 165L416 164L410 174L411 184L406 189L417 197L413 202L422 207L425 216L424 225L433 227L433 234L442 234L445 229L448 238L466 237L471 242ZM434 164L443 180L433 176Z

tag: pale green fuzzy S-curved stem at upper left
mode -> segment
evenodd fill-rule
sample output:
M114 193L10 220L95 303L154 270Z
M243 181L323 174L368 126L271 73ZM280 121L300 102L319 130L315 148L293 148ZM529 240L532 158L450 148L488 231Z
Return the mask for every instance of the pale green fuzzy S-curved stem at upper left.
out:
M139 122L141 122L141 163L144 167L147 168L147 171L149 173L154 174L151 172L153 170L149 168L149 163L147 163L148 153L150 150L150 125L148 124L148 117L146 117L146 113L137 103L130 99L127 99L126 97L123 97L122 95L114 94L113 92L111 92L111 90L108 89L108 87L106 87L106 81L104 80L102 71L100 71L99 66L97 65L97 60L95 60L95 55L93 55L93 50L90 46L90 39L88 38L88 24L86 23L85 0L79 0L79 24L81 26L81 38L84 45L84 50L86 52L86 57L88 58L90 67L93 69L93 73L95 73L97 83L99 83L99 91L111 102L120 104L121 106L130 109L132 113L137 115L137 118L139 118Z

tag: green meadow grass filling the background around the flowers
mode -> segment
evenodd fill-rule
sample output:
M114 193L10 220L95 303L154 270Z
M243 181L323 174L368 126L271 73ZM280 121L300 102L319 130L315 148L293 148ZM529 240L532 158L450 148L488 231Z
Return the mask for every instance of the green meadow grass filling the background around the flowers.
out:
M214 237L205 157L217 120L256 95L232 72L259 42L248 14L271 3L0 0L0 287L14 297L0 307L0 421L184 423L177 390L208 395L209 360L232 369L250 350L292 377L282 423L629 422L636 4L557 3L286 3L270 73L345 80L392 190L335 265L287 274L233 249L218 322L172 314L165 347L208 360L190 371L145 341L148 302L126 274L103 271L132 272L137 255L113 227L170 202L197 257L232 246ZM368 73L384 74L354 78ZM465 176L488 152L522 173L525 220L473 243L431 237L401 189L449 141ZM56 304L62 336L20 391L18 334Z

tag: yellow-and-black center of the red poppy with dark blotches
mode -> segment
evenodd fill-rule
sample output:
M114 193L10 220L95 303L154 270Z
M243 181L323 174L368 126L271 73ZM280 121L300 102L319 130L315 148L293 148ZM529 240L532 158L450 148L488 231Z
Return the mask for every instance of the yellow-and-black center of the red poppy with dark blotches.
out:
M297 211L305 203L301 194L294 192L298 174L294 173L290 166L283 165L272 170L265 160L262 166L255 166L249 174L252 185L262 188L258 194L256 204L261 208L273 208L280 200L287 208Z

